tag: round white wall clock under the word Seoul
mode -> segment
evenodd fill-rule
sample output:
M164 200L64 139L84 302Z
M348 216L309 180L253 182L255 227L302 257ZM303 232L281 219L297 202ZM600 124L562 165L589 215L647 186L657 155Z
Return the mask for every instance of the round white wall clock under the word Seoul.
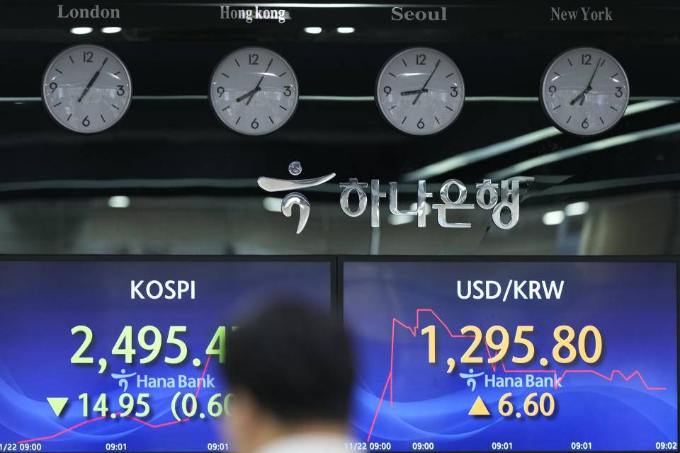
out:
M375 85L375 101L385 120L400 132L436 134L460 114L465 84L446 55L428 47L402 50L387 60Z

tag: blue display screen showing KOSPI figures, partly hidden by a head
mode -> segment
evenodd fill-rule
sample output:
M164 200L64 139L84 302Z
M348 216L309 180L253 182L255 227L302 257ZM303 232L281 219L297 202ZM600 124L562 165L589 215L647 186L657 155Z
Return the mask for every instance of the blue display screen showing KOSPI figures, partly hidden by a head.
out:
M232 451L236 319L331 309L324 262L0 262L1 452Z

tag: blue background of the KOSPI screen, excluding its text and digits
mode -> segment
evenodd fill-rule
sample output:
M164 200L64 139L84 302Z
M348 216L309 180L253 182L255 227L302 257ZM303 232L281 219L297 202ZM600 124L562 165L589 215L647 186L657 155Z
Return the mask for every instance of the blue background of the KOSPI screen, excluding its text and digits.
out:
M195 280L196 299L183 294L181 300L133 300L130 280ZM208 357L205 350L218 326L230 330L239 314L279 297L297 297L330 310L330 285L327 262L0 263L0 445L55 435L98 418L92 407L103 392L108 394L109 410L120 411L123 387L111 374L121 369L140 376L200 378ZM94 357L94 365L71 364L84 340L81 333L72 336L71 329L81 324L94 333L94 342L84 354ZM125 363L125 357L111 354L126 325L133 328L137 348L132 365ZM148 352L137 345L137 332L147 325L159 328L164 346L156 360L140 365L140 357ZM188 346L188 359L181 365L163 359L179 352L176 346L165 345L169 326L187 326L186 333L177 336ZM151 341L152 336L148 338ZM103 374L98 374L99 357L108 360ZM202 365L193 366L193 358ZM195 416L160 428L129 418L96 420L40 440L42 451L99 452L106 442L125 442L132 452L197 452L206 451L209 442L228 442L225 415L212 418L207 411L212 395L225 396L229 391L216 355L205 372L215 388L199 391L198 411L205 413L204 419ZM175 420L170 406L176 391L196 390L138 389L136 378L128 378L128 393L151 395L152 413L143 420L152 425ZM84 418L78 399L84 392L90 399L89 418ZM47 403L48 396L69 397L60 418Z

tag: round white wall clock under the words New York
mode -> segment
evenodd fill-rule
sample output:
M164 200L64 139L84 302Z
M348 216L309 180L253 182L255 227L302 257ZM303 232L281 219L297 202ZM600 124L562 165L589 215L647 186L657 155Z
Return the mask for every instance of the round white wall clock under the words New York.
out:
M560 130L594 135L621 120L629 89L628 77L614 57L592 47L577 47L548 65L540 98Z

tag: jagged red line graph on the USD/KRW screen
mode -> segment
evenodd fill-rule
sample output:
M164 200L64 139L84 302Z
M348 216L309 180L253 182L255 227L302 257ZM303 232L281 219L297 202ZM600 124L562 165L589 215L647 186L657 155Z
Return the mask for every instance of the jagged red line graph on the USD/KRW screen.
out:
M390 350L390 372L387 374L387 380L385 381L385 388L382 389L382 394L380 395L380 401L378 401L378 407L375 409L375 415L373 415L373 422L370 423L370 430L368 430L368 439L366 442L370 442L370 436L373 434L373 426L375 425L375 420L378 418L378 413L380 412L380 406L382 406L382 401L385 399L385 392L387 391L387 386L390 386L390 406L393 406L394 400L392 398L392 369L394 368L394 363L395 363L395 326L399 324L399 326L402 326L404 328L407 328L409 332L412 334L412 336L416 336L418 333L418 328L420 326L420 313L421 311L427 311L430 314L432 314L439 323L446 329L446 332L451 338L474 338L472 335L453 335L451 333L450 328L446 325L444 321L441 320L439 316L432 310L432 309L417 309L416 310L416 325L413 327L409 327L406 324L402 323L402 321L399 321L396 318L392 318L392 345L391 345L391 350ZM487 348L487 354L489 357L492 357L491 355L491 350L489 350L489 345L487 345L486 340L485 340L485 346ZM497 365L495 363L491 364L492 369L494 372L496 371ZM505 373L550 373L553 374L553 382L555 383L555 389L557 389L557 386L560 385L562 382L562 379L565 378L565 375L567 373L591 373L595 374L596 376L599 376L603 379L606 379L608 381L612 381L614 379L615 374L620 374L621 377L625 381L630 380L633 376L638 376L640 378L640 381L642 382L642 385L645 386L645 389L647 390L666 390L666 387L650 387L647 386L647 383L645 382L645 379L642 378L642 374L640 374L640 371L637 369L630 374L630 376L625 377L625 374L623 374L620 370L614 369L611 374L607 377L605 374L601 374L599 372L596 372L594 369L567 369L564 372L562 372L562 376L560 376L560 379L557 379L557 371L556 370L550 370L550 369L506 369L505 363L501 361L501 367L503 369L503 372Z

